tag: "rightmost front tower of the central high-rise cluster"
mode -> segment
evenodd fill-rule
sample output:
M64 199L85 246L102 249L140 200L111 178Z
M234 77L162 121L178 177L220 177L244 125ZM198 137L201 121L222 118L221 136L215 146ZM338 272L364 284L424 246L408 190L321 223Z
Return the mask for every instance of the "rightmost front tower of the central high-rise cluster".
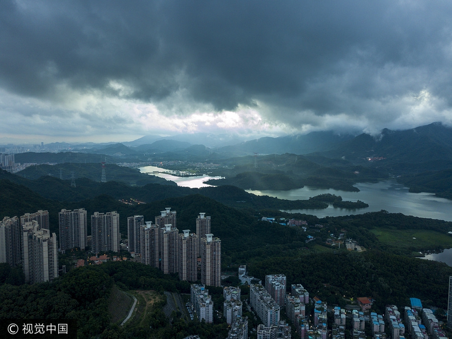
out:
M201 283L221 286L221 240L206 234L201 239Z

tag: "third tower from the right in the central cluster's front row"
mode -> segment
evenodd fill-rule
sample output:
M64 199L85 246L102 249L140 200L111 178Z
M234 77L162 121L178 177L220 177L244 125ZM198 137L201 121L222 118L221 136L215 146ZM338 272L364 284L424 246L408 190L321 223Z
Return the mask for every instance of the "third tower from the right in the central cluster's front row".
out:
M166 224L160 228L160 270L163 273L177 273L179 270L179 247L178 247L179 230L171 224Z

